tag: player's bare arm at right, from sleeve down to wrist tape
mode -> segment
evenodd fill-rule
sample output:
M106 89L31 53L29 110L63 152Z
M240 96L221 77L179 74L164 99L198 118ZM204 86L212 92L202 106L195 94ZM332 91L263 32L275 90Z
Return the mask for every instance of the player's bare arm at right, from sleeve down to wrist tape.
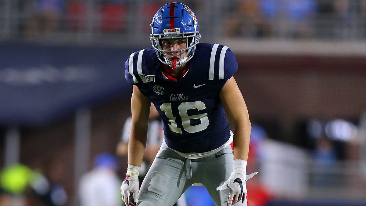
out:
M221 89L220 100L224 106L229 124L234 126L234 159L247 161L251 124L242 93L234 77Z

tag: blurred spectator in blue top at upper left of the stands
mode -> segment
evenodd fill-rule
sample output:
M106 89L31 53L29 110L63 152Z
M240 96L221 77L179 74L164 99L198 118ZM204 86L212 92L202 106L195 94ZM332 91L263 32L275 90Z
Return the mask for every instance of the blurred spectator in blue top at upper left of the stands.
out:
M64 0L34 0L33 15L29 19L26 37L32 39L41 32L46 35L56 32L63 9Z

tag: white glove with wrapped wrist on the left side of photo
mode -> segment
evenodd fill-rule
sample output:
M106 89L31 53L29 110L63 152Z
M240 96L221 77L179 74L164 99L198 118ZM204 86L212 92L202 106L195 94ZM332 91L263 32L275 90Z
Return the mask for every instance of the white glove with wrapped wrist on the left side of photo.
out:
M135 206L138 202L138 174L140 167L134 165L127 165L126 178L121 185L122 200L126 206ZM134 202L130 202L129 198L133 195Z

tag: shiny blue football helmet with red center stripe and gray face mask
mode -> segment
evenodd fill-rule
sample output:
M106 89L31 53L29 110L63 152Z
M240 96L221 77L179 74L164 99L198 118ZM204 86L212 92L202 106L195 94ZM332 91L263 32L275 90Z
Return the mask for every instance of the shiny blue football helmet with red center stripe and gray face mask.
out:
M194 12L182 3L169 3L161 7L153 17L151 23L150 41L156 51L158 59L172 68L183 66L194 55L196 45L201 35L198 32L198 21ZM164 50L161 40L186 39L186 48L180 50ZM182 56L182 51L186 54ZM179 60L174 62L167 58L165 52L180 52Z

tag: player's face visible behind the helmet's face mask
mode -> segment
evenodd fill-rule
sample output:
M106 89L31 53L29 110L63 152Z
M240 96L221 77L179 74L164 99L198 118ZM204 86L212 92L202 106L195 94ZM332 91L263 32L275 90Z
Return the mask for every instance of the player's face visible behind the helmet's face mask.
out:
M161 47L167 51L185 49L187 47L187 41L185 38L184 39L162 40ZM180 51L179 52L165 52L165 54L167 55L167 58L169 58L170 60L174 60L174 59L183 58L186 55L186 52L187 52L186 50L183 50L182 54L180 54Z

